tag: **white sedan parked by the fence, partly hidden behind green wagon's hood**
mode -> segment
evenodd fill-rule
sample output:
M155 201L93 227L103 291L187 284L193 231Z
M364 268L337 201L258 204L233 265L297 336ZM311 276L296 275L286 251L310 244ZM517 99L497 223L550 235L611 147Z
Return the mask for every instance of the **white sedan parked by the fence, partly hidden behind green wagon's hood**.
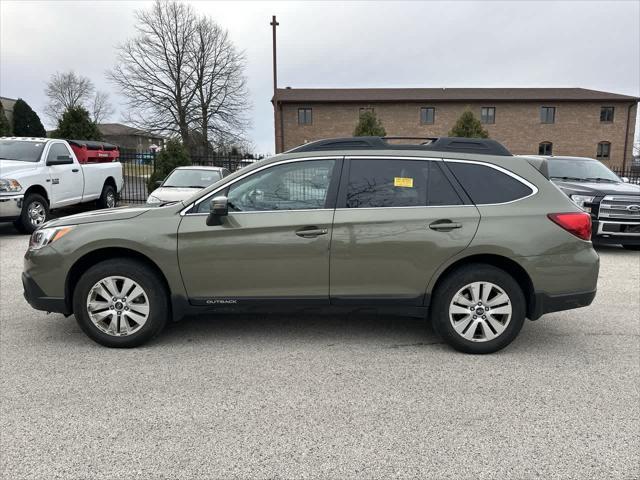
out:
M180 202L229 175L222 167L178 167L160 182L147 199L148 204Z

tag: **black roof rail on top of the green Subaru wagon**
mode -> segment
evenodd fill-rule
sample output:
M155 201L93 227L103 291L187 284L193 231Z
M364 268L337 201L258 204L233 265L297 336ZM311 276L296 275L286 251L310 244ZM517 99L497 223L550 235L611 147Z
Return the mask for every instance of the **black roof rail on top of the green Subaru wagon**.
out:
M425 140L420 144L396 144L388 140ZM328 138L306 143L287 153L328 150L418 150L436 152L479 153L512 156L504 145L487 138L464 137L346 137Z

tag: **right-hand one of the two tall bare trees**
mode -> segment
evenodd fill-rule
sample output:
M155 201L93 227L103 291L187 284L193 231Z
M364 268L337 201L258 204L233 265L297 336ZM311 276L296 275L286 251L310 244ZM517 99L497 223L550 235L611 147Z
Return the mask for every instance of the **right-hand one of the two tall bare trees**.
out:
M248 125L244 55L209 17L198 20L194 40L197 110L192 122L203 141L201 147L206 149L211 142L241 143Z

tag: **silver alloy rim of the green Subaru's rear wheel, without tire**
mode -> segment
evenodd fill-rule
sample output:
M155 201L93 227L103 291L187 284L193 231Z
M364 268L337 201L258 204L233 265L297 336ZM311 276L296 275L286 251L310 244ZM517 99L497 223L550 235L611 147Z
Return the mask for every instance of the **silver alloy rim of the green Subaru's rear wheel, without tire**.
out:
M449 305L453 329L471 342L488 342L502 335L511 314L511 299L502 288L490 282L465 285Z

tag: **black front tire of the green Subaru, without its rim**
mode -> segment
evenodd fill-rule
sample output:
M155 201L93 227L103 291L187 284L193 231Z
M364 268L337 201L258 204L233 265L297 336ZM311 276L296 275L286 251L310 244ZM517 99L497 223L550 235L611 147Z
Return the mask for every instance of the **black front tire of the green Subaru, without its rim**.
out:
M148 299L149 314L146 322L139 330L129 335L116 336L105 333L90 318L87 307L89 294L94 285L107 277L126 277L133 280L142 288ZM105 260L89 268L80 277L73 293L73 311L80 328L95 342L105 347L132 348L148 342L164 329L169 319L168 297L162 280L146 264L127 258ZM133 305L133 303L129 303L129 305ZM124 315L124 312L122 313ZM110 317L110 322L114 318ZM121 327L120 322L121 320L118 319L118 329Z

